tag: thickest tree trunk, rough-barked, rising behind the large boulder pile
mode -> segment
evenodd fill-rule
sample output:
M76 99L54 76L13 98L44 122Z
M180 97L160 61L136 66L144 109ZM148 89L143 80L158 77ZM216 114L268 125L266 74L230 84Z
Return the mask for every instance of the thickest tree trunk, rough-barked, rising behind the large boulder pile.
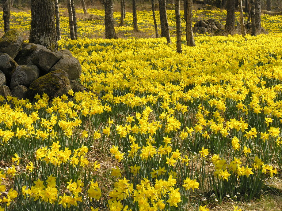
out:
M31 0L29 43L40 44L49 50L58 50L55 28L54 0Z

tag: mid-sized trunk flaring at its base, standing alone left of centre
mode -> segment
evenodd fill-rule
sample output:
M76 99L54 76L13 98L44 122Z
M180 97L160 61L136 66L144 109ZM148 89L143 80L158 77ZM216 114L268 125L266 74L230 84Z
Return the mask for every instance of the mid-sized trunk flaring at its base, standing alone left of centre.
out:
M113 0L105 0L105 38L117 39L113 19Z

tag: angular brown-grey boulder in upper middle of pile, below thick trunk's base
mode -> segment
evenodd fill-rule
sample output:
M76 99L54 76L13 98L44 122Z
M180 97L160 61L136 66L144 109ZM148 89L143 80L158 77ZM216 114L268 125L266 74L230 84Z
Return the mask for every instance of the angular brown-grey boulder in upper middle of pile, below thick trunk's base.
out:
M50 50L40 49L38 53L33 57L32 63L43 70L44 72L49 72L51 67L55 65L61 57Z

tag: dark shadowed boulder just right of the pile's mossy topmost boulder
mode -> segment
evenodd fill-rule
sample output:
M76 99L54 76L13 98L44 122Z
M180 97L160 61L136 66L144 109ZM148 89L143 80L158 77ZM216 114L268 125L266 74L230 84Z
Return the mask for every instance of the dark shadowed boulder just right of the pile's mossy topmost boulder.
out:
M39 52L39 50L44 49L47 50L45 46L27 43L23 44L23 48L19 51L17 56L15 57L15 61L19 65L31 65L32 59Z

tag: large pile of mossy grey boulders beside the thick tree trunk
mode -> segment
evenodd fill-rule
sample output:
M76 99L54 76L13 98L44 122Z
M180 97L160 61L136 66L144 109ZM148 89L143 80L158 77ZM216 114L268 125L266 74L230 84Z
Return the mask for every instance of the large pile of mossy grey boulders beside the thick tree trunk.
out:
M36 94L50 98L85 88L76 81L79 61L69 50L51 52L46 47L24 43L21 32L10 30L0 38L0 95L33 99Z

